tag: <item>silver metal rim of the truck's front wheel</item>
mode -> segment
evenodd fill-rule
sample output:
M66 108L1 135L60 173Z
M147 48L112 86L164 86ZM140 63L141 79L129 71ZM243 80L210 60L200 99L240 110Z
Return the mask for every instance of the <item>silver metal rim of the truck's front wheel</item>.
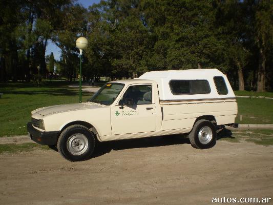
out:
M88 139L85 135L77 133L67 140L67 149L73 155L81 155L88 149Z

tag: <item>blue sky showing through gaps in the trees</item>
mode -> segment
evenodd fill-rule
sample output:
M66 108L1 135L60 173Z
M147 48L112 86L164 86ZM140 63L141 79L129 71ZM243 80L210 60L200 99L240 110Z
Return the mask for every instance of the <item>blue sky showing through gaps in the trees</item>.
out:
M93 4L99 3L100 0L78 0L77 2L83 7L88 8ZM60 59L60 49L54 43L52 43L51 40L49 40L46 48L46 55L49 55L51 52L53 52L55 60Z

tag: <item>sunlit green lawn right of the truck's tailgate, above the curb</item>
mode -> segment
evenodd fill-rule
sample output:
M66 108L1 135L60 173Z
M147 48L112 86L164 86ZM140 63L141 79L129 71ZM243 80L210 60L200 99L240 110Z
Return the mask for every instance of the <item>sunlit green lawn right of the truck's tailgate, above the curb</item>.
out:
M273 124L273 100L264 98L237 98L239 124ZM240 121L240 115L242 121Z

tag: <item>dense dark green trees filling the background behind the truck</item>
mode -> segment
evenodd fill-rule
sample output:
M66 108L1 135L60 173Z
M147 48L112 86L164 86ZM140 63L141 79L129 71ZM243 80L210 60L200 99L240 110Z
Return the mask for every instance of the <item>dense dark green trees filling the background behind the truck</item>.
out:
M235 89L273 89L273 0L108 0L88 9L73 0L0 4L1 81L29 81L38 65L44 77L53 72L49 40L61 50L58 73L75 79L75 40L85 36L87 79L217 68Z

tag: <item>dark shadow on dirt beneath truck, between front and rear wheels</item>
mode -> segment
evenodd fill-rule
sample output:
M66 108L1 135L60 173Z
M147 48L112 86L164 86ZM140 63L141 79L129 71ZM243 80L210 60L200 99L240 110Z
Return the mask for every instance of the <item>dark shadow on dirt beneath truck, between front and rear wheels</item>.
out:
M93 158L109 153L112 150L127 150L134 148L148 148L183 144L190 145L191 142L187 136L183 136L181 134L97 142L93 153Z

